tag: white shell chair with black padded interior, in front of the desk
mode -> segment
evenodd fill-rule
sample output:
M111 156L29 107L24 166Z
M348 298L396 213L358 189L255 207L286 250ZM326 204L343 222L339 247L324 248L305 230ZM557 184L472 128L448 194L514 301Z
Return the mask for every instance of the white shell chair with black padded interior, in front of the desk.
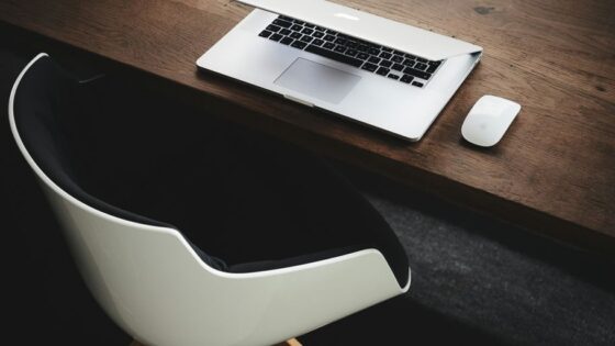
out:
M124 331L266 345L407 290L395 235L322 159L136 90L78 82L40 54L9 101L18 147Z

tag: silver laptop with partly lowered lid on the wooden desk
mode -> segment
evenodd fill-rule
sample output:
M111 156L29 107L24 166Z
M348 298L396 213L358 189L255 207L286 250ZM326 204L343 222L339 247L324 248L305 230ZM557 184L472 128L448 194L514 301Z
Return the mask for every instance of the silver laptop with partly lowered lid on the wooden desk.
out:
M418 141L479 63L480 46L324 0L256 9L197 65Z

